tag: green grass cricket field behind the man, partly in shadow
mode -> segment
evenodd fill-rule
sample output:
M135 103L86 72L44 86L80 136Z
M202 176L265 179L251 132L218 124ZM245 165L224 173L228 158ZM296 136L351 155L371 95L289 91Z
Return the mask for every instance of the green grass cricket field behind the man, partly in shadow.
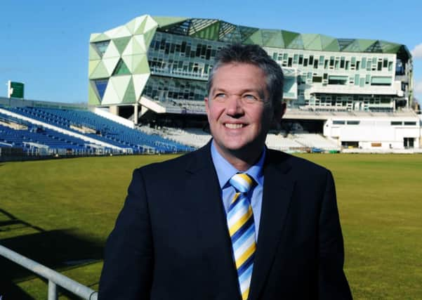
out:
M0 244L98 289L103 245L131 171L171 157L0 163ZM422 155L301 157L333 171L355 299L422 299ZM6 292L46 299L47 285L0 259Z

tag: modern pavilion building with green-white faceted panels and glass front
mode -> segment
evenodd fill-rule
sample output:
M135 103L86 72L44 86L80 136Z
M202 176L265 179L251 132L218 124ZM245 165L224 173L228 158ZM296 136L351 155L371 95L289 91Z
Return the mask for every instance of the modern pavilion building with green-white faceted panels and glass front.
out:
M261 45L282 66L291 108L395 112L413 98L411 54L402 44L142 15L91 34L88 104L116 114L122 106L136 115L138 107L204 114L213 58L233 43Z

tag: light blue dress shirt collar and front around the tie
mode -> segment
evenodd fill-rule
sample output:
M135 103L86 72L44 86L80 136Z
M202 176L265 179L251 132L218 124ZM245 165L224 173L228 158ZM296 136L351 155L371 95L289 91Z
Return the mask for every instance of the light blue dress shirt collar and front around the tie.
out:
M261 207L263 202L263 186L264 186L264 175L263 165L265 160L265 148L263 154L256 164L253 164L247 171L241 172L230 164L224 157L218 153L214 141L211 143L211 157L213 159L214 167L217 171L218 182L220 183L221 199L223 199L223 206L225 214L227 215L232 202L235 197L236 190L230 185L229 181L233 175L237 173L246 173L251 176L257 183L255 188L249 192L251 199L251 207L253 211L253 221L255 222L255 240L258 240L259 232L259 221L261 220Z

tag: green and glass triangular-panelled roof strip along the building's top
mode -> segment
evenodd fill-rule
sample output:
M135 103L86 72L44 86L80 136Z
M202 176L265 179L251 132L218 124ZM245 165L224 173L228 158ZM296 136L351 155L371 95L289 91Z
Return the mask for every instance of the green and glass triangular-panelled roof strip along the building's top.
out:
M336 39L324 34L300 34L287 30L266 30L234 25L223 20L154 17L157 31L226 43L258 44L264 47L366 53L402 53L406 46L376 39Z

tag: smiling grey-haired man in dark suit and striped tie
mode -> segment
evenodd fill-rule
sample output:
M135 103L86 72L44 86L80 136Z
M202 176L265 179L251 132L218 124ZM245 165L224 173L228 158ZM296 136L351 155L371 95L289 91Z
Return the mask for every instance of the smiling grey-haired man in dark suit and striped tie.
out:
M282 82L259 46L218 53L213 139L133 172L100 299L351 299L331 173L265 148Z

